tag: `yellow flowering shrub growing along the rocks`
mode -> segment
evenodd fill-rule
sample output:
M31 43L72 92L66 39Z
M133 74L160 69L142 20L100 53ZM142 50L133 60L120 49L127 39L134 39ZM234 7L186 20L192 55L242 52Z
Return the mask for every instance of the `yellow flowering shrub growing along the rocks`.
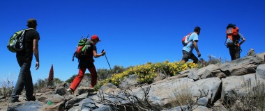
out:
M198 65L193 62L156 62L156 63L146 63L145 65L137 65L135 67L131 67L126 71L123 71L119 74L112 75L111 78L107 78L105 80L101 80L96 85L97 88L105 85L107 83L112 83L113 85L119 85L121 81L131 74L136 74L138 78L136 78L138 83L152 83L153 78L156 78L156 71L161 70L165 71L165 73L169 76L175 76L180 74L181 71L191 68L198 68ZM96 89L96 88L95 88Z

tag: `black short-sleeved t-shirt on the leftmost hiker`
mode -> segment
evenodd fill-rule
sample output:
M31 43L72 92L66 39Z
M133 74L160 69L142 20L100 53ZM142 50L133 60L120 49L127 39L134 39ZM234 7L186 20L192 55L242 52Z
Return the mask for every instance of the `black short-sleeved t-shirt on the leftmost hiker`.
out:
M33 40L37 39L40 40L40 34L36 30L28 30L24 35L23 46L24 50L18 51L17 56L33 56Z

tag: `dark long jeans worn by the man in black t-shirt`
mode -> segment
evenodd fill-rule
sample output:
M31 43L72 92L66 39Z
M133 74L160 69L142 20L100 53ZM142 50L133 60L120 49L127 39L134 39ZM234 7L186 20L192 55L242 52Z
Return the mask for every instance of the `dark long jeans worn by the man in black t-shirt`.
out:
M17 62L20 65L20 74L17 78L17 83L15 85L15 89L13 90L11 96L12 100L16 100L19 98L18 95L21 94L22 90L26 89L26 97L30 99L33 96L33 83L31 77L31 58L26 58L24 56L17 56Z

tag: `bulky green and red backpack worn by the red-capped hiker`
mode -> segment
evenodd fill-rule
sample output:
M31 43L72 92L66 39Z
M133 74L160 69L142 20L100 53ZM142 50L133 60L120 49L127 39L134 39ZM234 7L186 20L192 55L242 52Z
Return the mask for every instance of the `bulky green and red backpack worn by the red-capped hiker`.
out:
M77 58L78 60L82 58L82 56L86 55L88 51L91 51L92 42L88 38L81 38L77 44L77 49L75 49L75 53L73 54L72 60Z

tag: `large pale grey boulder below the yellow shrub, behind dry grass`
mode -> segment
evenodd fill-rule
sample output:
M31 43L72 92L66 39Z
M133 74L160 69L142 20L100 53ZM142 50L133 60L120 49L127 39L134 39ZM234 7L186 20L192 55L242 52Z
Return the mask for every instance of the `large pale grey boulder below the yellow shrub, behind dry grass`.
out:
M164 83L153 83L149 89L149 101L158 106L167 105L172 101L175 94L181 94L184 90L190 92L193 97L199 97L201 94L213 101L220 87L220 78L207 78L194 81L190 78L166 79ZM142 87L147 90L149 87ZM144 100L145 94L142 88L133 89L134 95ZM208 95L204 95L204 94Z

